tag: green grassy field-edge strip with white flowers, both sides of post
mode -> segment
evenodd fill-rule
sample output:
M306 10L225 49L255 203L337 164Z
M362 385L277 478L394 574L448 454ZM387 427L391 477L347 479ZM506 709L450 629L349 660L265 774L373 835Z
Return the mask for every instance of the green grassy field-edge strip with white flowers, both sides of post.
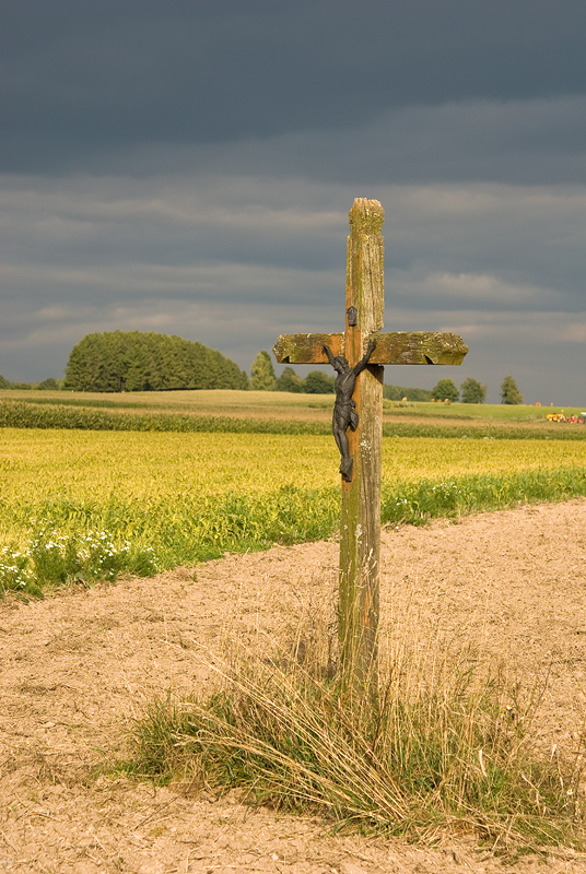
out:
M258 494L178 488L157 494L153 488L154 494L141 499L129 499L119 491L122 494L96 493L93 499L0 497L5 532L0 589L17 590L26 584L25 578L43 587L96 579L99 574L103 579L120 572L141 575L190 566L225 552L324 540L335 534L340 518L336 486L288 484ZM382 519L386 524L423 524L441 517L584 495L586 468L572 466L385 481Z

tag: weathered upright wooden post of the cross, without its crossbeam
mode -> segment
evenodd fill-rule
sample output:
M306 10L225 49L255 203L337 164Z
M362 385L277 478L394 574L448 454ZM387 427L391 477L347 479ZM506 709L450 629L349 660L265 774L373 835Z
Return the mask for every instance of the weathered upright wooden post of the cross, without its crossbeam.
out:
M344 355L350 367L383 328L384 216L378 201L364 199L354 201L349 215ZM371 356L353 395L359 426L348 434L354 475L350 483L342 477L338 634L342 680L359 689L375 689L378 678L383 380L384 368Z

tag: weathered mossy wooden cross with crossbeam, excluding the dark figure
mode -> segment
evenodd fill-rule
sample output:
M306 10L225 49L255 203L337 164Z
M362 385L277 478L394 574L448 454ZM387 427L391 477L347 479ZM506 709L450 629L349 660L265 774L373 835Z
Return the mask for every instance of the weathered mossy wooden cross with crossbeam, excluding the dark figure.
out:
M327 345L353 367L368 340L376 340L353 394L359 424L348 432L353 472L351 482L342 479L340 527L341 673L347 686L364 692L375 689L377 681L383 365L461 364L468 346L452 333L378 333L384 316L384 210L377 200L358 198L349 218L345 331L281 334L273 354L279 364L327 364Z

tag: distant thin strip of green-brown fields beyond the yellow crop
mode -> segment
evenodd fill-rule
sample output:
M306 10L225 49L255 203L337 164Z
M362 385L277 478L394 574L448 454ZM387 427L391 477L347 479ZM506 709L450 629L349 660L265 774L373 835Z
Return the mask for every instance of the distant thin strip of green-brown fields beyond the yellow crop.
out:
M330 433L332 394L167 391L92 394L0 391L0 427L236 434ZM383 432L399 437L586 440L585 425L547 421L559 408L385 400ZM579 408L565 408L579 414Z

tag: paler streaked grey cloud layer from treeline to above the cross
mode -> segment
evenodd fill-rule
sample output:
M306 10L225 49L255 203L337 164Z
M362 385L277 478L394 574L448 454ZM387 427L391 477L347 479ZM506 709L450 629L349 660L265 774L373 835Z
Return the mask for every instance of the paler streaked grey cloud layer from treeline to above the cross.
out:
M186 176L35 188L12 178L0 373L59 375L73 344L95 330L178 333L248 369L279 333L341 329L354 194L376 194L386 210L387 330L456 331L471 349L466 375L490 381L504 367L528 390L552 393L564 373L569 392L584 395L586 193L563 187L351 191ZM400 385L437 378L425 368L387 374Z

